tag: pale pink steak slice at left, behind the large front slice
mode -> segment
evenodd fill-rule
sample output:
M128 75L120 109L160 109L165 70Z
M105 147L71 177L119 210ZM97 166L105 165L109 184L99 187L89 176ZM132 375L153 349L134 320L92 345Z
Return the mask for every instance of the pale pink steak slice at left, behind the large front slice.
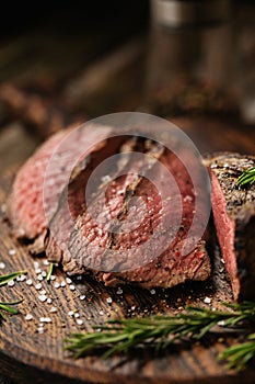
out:
M76 162L96 150L109 127L93 125L60 131L45 142L19 170L10 197L8 217L16 238L35 240L34 252L44 250L47 224L69 182ZM100 146L101 144L98 144ZM56 153L57 151L57 153ZM53 156L56 153L56 156Z

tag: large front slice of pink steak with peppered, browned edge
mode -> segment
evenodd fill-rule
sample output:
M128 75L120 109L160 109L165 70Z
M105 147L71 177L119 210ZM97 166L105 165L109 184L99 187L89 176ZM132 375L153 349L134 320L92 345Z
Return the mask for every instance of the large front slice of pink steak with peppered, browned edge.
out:
M100 170L88 203L90 176L111 154L121 157L107 173ZM170 183L165 172L175 182ZM183 162L162 145L141 137L112 138L74 169L49 223L46 255L61 262L66 272L91 273L106 285L171 287L206 280L210 275L206 240L195 238L200 222L193 227L195 202L204 189L201 180L195 191ZM202 221L202 204L198 208ZM195 241L188 236L192 227Z

